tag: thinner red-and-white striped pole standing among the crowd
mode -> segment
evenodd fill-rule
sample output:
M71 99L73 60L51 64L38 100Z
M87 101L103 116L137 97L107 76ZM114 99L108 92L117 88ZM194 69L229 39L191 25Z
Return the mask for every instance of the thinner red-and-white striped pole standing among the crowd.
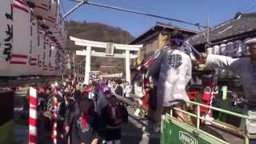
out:
M54 94L54 126L53 126L53 133L52 133L54 144L57 144L57 117L58 117L58 99Z

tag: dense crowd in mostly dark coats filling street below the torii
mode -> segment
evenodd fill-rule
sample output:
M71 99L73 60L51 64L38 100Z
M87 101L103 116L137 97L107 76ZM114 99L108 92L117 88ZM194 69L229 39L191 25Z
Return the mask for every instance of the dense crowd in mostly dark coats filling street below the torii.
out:
M121 80L98 80L89 85L34 85L38 90L38 143L52 141L56 121L58 144L121 143L122 124L128 122L128 112L114 93L126 97L130 93L128 85L121 84ZM57 118L54 98L58 99Z

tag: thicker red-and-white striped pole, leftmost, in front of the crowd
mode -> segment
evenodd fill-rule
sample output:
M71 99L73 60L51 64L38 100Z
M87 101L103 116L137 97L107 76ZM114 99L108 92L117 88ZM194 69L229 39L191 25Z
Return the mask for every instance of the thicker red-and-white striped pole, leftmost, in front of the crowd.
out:
M37 143L38 99L37 90L30 87L29 144Z

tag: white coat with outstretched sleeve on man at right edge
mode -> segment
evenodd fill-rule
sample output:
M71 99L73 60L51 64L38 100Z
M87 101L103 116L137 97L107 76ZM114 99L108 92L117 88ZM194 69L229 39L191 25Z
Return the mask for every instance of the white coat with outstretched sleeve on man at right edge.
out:
M210 54L206 58L206 67L218 67L237 73L241 78L246 100L256 102L256 64L251 62L250 58L230 58Z

